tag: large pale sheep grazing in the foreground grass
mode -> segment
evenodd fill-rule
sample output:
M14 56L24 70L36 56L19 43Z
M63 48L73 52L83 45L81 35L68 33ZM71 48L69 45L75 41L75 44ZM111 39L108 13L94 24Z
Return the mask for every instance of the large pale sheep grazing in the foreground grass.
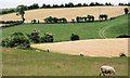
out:
M112 74L116 75L116 72L115 72L114 67L104 65L104 66L101 66L100 76L102 74L103 74L103 76L105 76L105 74L109 74L109 76L112 76Z

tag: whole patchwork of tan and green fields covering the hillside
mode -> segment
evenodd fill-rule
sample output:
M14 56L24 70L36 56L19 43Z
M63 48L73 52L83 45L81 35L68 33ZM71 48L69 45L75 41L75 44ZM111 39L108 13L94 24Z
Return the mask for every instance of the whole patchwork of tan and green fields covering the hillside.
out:
M2 75L99 76L100 66L106 64L116 69L117 76L127 76L128 57L119 57L119 54L128 55L128 39L116 39L116 36L128 34L129 14L104 22L30 24L34 18L43 22L43 18L48 16L66 17L72 21L76 16L87 16L88 14L94 15L95 20L99 20L100 14L107 14L109 18L125 14L123 8L126 6L83 6L26 11L24 24L0 28L2 39L17 31L26 36L36 28L41 37L46 32L52 34L54 43L36 44L30 42L30 46L37 50L3 47ZM15 13L1 16L3 21L21 20L21 16L16 16ZM80 40L70 41L72 34L77 34ZM46 52L47 48L50 48L51 51ZM80 53L84 53L84 56L80 56Z

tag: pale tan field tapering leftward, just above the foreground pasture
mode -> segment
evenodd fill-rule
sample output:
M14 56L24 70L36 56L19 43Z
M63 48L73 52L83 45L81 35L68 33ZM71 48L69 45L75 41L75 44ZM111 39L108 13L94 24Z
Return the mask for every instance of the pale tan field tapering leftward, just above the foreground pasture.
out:
M128 55L128 39L92 39L79 40L56 43L41 43L32 44L37 49L47 50L51 52L79 55L83 53L84 56L119 56L120 53Z

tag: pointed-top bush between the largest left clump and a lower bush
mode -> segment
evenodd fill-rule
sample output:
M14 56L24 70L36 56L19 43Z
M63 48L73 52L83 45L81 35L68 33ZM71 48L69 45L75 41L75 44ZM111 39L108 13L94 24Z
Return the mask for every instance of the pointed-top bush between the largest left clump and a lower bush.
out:
M35 42L35 43L39 43L40 42L40 35L39 35L39 30L37 30L36 28L32 30L32 32L29 35L27 34L28 38Z

